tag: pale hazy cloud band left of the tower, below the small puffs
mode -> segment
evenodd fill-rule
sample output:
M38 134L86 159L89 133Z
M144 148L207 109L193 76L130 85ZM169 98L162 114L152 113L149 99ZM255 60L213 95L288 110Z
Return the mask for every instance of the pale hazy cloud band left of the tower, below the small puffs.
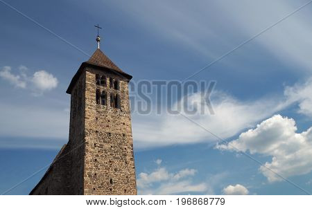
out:
M14 138L68 139L69 112L63 109L29 104L6 104L0 102L0 136ZM21 140L15 147L37 147L38 142ZM49 146L49 145L47 145ZM0 147L5 147L3 143ZM53 147L55 147L53 145Z

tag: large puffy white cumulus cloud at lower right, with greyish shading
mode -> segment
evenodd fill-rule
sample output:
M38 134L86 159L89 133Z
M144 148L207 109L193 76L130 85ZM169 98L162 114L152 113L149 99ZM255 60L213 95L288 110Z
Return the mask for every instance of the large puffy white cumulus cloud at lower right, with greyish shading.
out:
M275 115L255 129L243 132L227 145L217 145L217 148L272 156L272 161L266 162L265 167L261 166L259 170L268 181L281 181L274 172L287 178L312 170L312 127L302 133L296 131L295 120Z

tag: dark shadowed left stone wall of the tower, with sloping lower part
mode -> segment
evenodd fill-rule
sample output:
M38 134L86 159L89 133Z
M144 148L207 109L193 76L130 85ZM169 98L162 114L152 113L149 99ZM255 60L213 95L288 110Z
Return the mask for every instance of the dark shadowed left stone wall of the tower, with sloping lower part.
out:
M30 194L83 194L85 73L80 75L71 93L69 126L69 143L62 147Z

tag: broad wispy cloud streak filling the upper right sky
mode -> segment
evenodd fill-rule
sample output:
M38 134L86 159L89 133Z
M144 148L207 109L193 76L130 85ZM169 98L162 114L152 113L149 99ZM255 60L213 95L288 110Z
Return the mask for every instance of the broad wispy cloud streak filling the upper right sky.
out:
M308 1L135 2L116 4L116 7L145 31L156 34L176 47L184 46L190 53L200 55L198 60L204 58L209 62L291 15ZM263 48L282 63L296 66L289 68L293 71L311 72L312 41L309 37L312 27L307 21L307 16L311 16L309 10L311 4L253 39L253 46ZM245 49L243 46L240 51ZM243 66L245 63L240 64Z

